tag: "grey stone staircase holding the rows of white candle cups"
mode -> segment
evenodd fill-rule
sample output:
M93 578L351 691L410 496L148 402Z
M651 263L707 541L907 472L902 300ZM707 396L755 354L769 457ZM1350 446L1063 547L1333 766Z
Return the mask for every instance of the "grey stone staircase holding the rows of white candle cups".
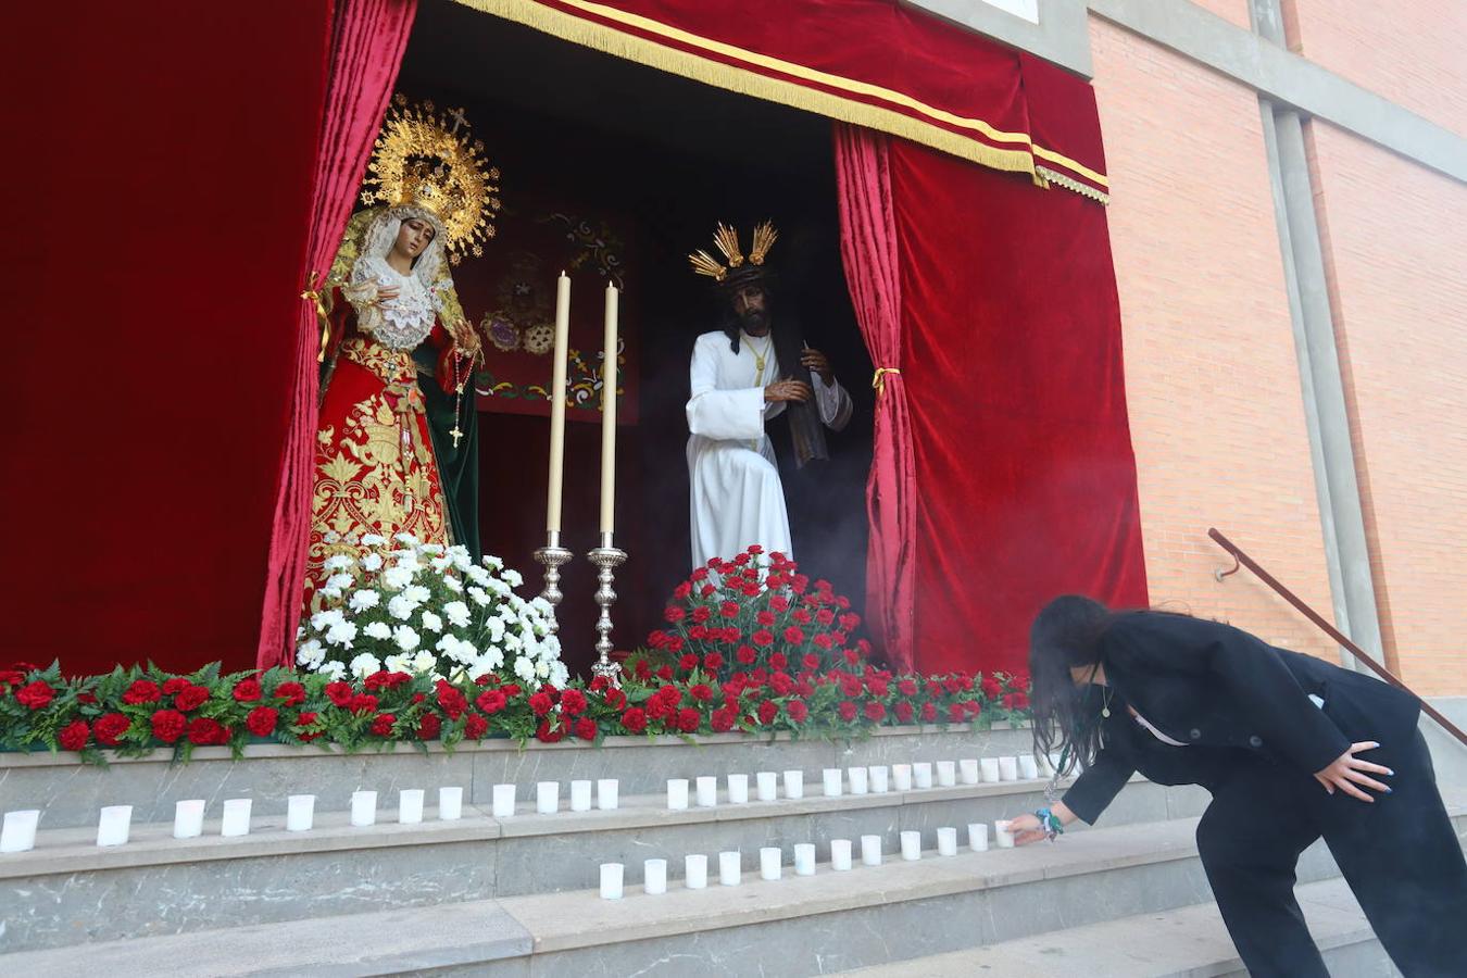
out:
M37 849L0 856L0 974L84 975L1225 975L1241 965L1193 843L1197 789L1127 786L1099 828L1059 845L939 856L934 830L992 823L1042 804L1043 782L820 796L820 770L998 757L1024 730L883 730L851 745L707 738L612 739L601 748L516 751L491 742L383 755L251 748L200 751L188 765L0 755L0 808L44 809ZM805 771L798 801L666 809L667 777ZM1441 765L1439 765L1441 768ZM621 779L616 811L565 811L571 779ZM533 814L537 780L562 782L562 811ZM753 779L751 779L753 780ZM494 783L519 787L490 817ZM461 784L464 818L395 824L396 789ZM1458 782L1457 784L1461 784ZM355 789L376 789L378 824L352 827ZM1460 831L1467 796L1446 784ZM285 798L315 793L315 827L285 831ZM172 839L173 802L210 799L200 839ZM224 798L254 798L249 836L219 836ZM132 804L129 845L98 849L97 809ZM387 806L393 806L392 811ZM898 833L923 833L917 862ZM829 865L830 839L880 834L886 862ZM820 865L797 877L792 846ZM758 878L760 846L785 875ZM716 853L745 875L720 887ZM707 853L707 890L682 887L682 856ZM669 891L641 891L641 861L669 861ZM601 900L597 864L626 864L626 896ZM1338 975L1391 974L1323 846L1300 865L1301 900ZM1147 950L1150 947L1150 950ZM1094 962L1093 965L1089 962ZM1080 962L1087 962L1080 965ZM1047 971L1045 971L1047 968Z

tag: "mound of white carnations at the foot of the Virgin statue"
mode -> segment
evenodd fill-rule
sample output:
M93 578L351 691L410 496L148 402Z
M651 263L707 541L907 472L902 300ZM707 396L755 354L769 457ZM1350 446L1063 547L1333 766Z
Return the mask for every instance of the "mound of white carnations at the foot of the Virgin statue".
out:
M506 673L565 686L553 609L515 594L524 581L499 557L411 534L361 540L358 557L326 560L320 609L298 632L296 664L333 680L378 672L475 680ZM396 544L396 545L392 545Z

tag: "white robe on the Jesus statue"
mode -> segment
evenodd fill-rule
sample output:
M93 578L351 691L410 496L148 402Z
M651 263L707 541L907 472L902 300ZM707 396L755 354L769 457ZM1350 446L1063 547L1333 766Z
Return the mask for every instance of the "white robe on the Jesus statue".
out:
M778 327L776 327L778 328ZM756 349L766 349L764 371ZM710 557L732 560L760 544L766 553L794 557L785 490L764 422L785 409L767 403L764 387L779 380L773 337L739 337L739 352L723 333L704 333L692 349L688 399L688 482L691 487L692 566ZM839 431L851 419L851 394L810 372L820 421Z

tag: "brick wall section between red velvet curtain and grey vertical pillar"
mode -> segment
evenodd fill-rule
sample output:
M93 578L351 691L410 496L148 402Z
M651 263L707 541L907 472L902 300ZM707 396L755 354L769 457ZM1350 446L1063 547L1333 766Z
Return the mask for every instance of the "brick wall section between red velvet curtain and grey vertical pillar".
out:
M1152 600L1334 657L1247 572L1215 581L1206 537L1329 614L1257 97L1097 18L1090 38Z

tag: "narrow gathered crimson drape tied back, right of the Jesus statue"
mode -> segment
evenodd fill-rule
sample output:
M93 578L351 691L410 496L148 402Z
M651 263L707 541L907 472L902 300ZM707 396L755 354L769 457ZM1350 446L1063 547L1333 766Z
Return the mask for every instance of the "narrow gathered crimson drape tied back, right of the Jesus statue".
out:
M911 416L902 380L902 289L892 213L888 136L836 123L841 261L855 318L877 372L871 474L866 482L870 543L866 619L892 667L912 666L917 485Z

